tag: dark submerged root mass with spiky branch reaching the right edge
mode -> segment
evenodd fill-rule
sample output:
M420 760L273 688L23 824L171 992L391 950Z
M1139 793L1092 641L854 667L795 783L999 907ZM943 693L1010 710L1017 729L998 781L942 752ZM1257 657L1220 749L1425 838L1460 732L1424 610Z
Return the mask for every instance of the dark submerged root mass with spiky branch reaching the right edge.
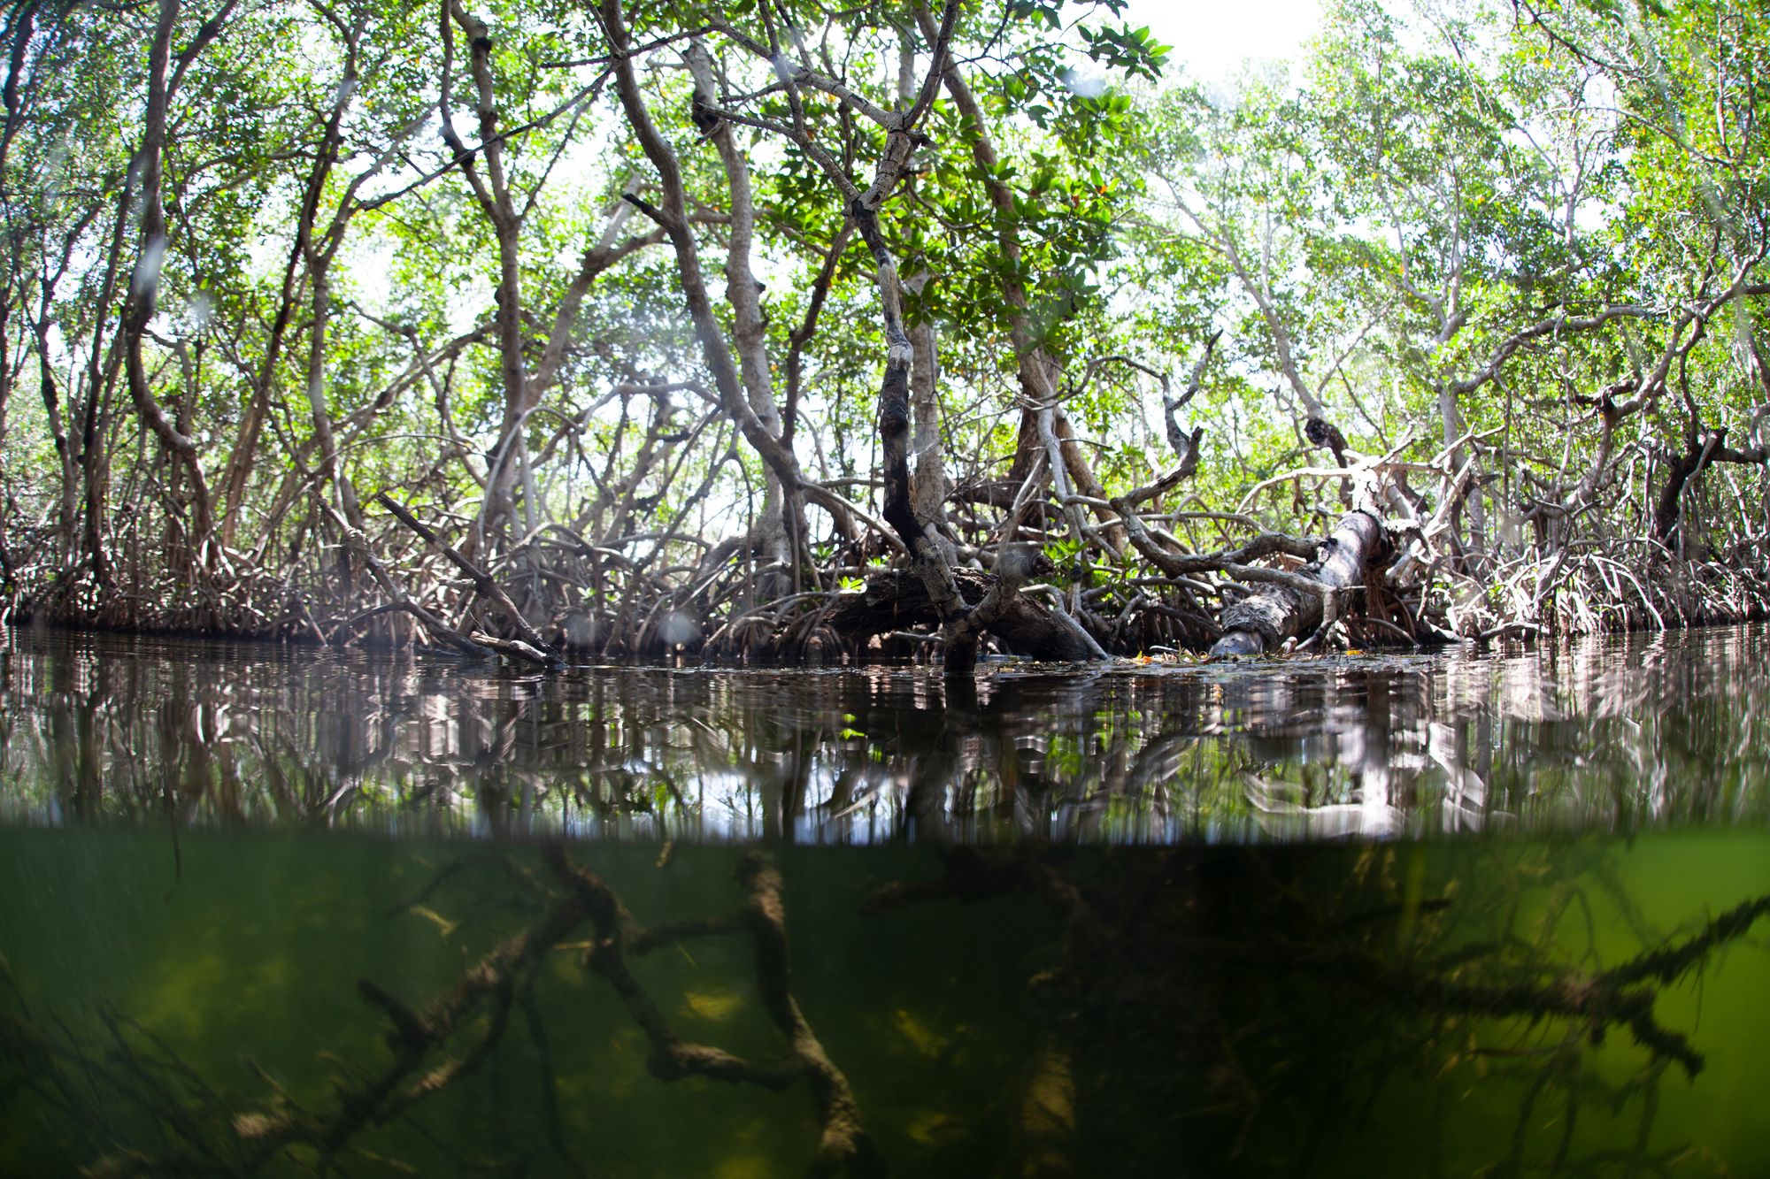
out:
M1092 1094L1074 1112L1083 1135L1090 1124L1096 1135L1115 1135L1119 1124L1138 1133L1138 1119L1172 1119L1179 1110L1195 1147L1214 1142L1223 1156L1237 1156L1260 1142L1255 1126L1262 1119L1294 1122L1281 1135L1292 1140L1297 1126L1333 1133L1361 1115L1391 1073L1439 1076L1467 1053L1485 1052L1471 1048L1474 1029L1545 1032L1552 1052L1501 1050L1499 1059L1517 1060L1522 1076L1540 1082L1528 1087L1526 1103L1565 1085L1570 1119L1586 1098L1581 1044L1598 1046L1605 1032L1627 1030L1646 1062L1605 1105L1620 1110L1637 1101L1648 1126L1658 1075L1676 1067L1694 1078L1703 1069L1689 1036L1655 1016L1662 988L1770 915L1770 896L1754 898L1690 936L1667 938L1609 970L1581 972L1572 967L1582 961L1577 951L1522 931L1469 944L1451 938L1462 921L1481 924L1515 908L1480 898L1397 903L1400 887L1381 864L1322 889L1310 867L1319 855L1287 852L1262 869L1258 855L1227 860L1175 850L1150 857L1140 871L1081 875L1043 852L956 850L938 878L887 885L867 906L890 913L1032 894L1069 929L1060 963L1030 981L1043 1002L1062 1011L1053 1025L1066 1029L1066 1039L1039 1059L1060 1057L1066 1071L1060 1083L1053 1073L1055 1087L1044 1085L1041 1064L1020 1103L1027 1170L1016 1174L1051 1175L1067 1174L1069 1156L1035 1144L1066 1135L1046 1138L1032 1129L1057 1129L1062 1119L1050 1114L1064 1101L1039 1094ZM1519 878L1501 883L1512 889ZM1349 910L1358 917L1331 919ZM1398 926L1409 931L1407 951L1397 945ZM1545 924L1545 936L1552 926ZM1434 956L1439 938L1455 952ZM1076 1149L1087 1151L1085 1137ZM1568 1149L1570 1140L1558 1144L1558 1167Z

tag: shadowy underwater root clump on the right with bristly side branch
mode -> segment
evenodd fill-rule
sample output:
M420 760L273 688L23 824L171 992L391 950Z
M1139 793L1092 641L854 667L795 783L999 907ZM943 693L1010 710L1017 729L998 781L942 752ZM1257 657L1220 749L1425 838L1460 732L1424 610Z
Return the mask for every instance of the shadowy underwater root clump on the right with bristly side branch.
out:
M1460 908L1457 899L1414 898L1372 908L1368 898L1359 899L1365 885L1345 878L1361 915L1354 922L1328 921L1324 913L1343 905L1301 887L1303 876L1287 875L1285 866L1303 862L1299 857L1274 860L1278 875L1250 869L1255 860L1244 857L1234 860L1234 875L1227 876L1228 860L1175 852L1159 857L1149 873L1104 878L1076 873L1062 853L1051 852L954 848L942 859L942 873L931 880L876 889L866 912L890 913L940 901L977 905L1007 896L1043 901L1066 929L1066 944L1051 967L1028 979L1028 991L1055 1004L1051 1027L1071 1029L1058 1050L1074 1059L1074 1085L1110 1094L1097 1098L1108 1108L1170 1110L1170 1115L1191 1108L1188 1117L1221 1117L1221 1145L1230 1156L1243 1152L1262 1110L1266 1117L1287 1117L1278 1112L1287 1101L1283 1094L1308 1073L1297 1071L1294 1053L1319 1034L1312 1018L1329 1018L1340 1029L1331 1050L1340 1069L1347 1052L1370 1053L1370 1099L1382 1075L1407 1060L1437 1075L1462 1053L1485 1053L1469 1039L1471 1021L1481 1020L1568 1027L1547 1052L1497 1050L1540 1060L1524 1066L1540 1071L1538 1082L1528 1082L1531 1099L1551 1078L1574 1075L1565 1060L1581 1041L1602 1046L1614 1030L1625 1030L1648 1060L1632 1087L1612 1094L1612 1103L1630 1092L1650 1094L1667 1066L1696 1078L1705 1067L1703 1053L1687 1034L1658 1020L1655 1004L1664 988L1703 968L1770 915L1770 896L1752 898L1696 933L1667 938L1607 970L1577 970L1565 965L1565 956L1529 951L1515 938L1462 945L1443 958L1398 952L1395 928L1405 922L1414 931L1409 936L1420 936L1425 922L1451 919ZM1181 878L1195 880L1197 889L1170 890ZM1393 882L1386 887L1393 889ZM1393 898L1391 890L1382 899ZM1319 910L1317 903L1329 908ZM1312 984L1287 982L1297 975L1313 975ZM1126 1014L1131 995L1138 1006L1135 1016ZM1289 1004L1308 995L1317 997L1310 1000L1315 1006L1299 1006L1292 1018ZM1103 1046L1104 1029L1122 1029L1110 1034L1124 1039ZM1273 1052L1269 1062L1257 1062L1255 1043ZM1205 1080L1182 1082L1156 1098L1117 1087L1113 1078L1135 1071L1127 1060L1142 1059L1140 1053L1150 1067L1188 1059L1186 1073ZM1089 1076L1089 1067L1096 1075ZM1285 1108L1290 1117L1306 1115L1328 1126L1347 1114L1333 1114L1333 1099L1351 1098L1343 1089L1333 1098L1303 1094ZM1568 1094L1570 1106L1581 1099L1579 1092ZM1653 1110L1651 1098L1644 1098L1644 1124ZM1561 1144L1561 1156L1566 1149ZM1039 1154L1048 1152L1044 1147Z

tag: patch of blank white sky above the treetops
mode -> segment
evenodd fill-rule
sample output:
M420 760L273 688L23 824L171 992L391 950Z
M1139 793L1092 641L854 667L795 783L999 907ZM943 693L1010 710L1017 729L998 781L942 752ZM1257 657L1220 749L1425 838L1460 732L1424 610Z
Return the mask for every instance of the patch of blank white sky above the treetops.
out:
M1320 23L1320 0L1131 0L1126 19L1172 44L1184 78L1209 83L1248 58L1299 57Z

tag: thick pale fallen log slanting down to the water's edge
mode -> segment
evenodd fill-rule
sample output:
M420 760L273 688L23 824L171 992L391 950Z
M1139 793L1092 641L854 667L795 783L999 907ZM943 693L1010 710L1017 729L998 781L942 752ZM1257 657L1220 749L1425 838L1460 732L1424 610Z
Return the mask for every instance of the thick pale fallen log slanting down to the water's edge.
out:
M1370 512L1347 512L1313 565L1223 607L1223 637L1211 648L1212 659L1262 655L1331 623L1340 595L1363 586L1365 570L1388 554L1382 520Z

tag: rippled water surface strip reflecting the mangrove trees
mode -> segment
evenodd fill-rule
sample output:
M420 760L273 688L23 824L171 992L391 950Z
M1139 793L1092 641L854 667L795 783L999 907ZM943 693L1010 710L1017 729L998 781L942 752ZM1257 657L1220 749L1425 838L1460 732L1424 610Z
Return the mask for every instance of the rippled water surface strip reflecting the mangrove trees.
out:
M1770 814L1770 628L1253 666L586 667L7 632L0 820L1297 839Z

